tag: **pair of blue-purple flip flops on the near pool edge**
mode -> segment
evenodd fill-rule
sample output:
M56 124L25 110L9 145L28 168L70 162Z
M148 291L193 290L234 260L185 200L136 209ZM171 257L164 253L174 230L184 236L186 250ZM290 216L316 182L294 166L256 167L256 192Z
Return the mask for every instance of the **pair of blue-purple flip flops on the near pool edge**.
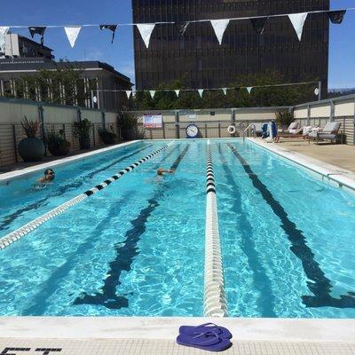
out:
M182 326L179 333L177 336L179 345L206 351L225 351L232 346L231 332L226 327L218 327L213 323L197 327Z

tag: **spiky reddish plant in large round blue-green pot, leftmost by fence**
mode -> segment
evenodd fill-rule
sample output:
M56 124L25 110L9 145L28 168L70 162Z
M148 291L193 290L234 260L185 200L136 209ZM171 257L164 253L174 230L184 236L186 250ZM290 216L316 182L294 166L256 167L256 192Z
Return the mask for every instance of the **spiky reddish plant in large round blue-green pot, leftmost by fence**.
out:
M25 116L21 121L22 129L27 136L23 138L18 146L20 157L24 162L40 162L45 153L45 146L42 139L36 138L41 123L30 121Z

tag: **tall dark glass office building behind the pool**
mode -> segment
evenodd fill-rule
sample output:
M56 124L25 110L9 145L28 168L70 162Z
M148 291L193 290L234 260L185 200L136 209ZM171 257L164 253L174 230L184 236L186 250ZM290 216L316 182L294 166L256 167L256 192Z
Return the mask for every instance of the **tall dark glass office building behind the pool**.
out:
M132 0L136 23L225 19L328 10L329 0ZM193 23L182 36L175 25L157 25L149 49L134 28L138 90L183 79L186 87L225 87L238 75L277 70L284 81L321 80L327 92L329 20L310 14L302 42L288 17L269 19L264 35L249 20L233 20L222 45L210 22ZM252 84L252 83L250 83Z

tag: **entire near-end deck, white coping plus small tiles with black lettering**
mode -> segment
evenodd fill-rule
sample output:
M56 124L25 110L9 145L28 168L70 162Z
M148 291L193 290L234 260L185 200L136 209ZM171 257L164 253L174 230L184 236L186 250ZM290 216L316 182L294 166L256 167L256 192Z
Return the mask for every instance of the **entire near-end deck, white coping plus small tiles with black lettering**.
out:
M0 318L0 351L10 354L204 354L175 343L178 327L212 321L228 327L225 354L355 355L355 319ZM37 349L37 351L36 351ZM3 352L6 353L6 352Z

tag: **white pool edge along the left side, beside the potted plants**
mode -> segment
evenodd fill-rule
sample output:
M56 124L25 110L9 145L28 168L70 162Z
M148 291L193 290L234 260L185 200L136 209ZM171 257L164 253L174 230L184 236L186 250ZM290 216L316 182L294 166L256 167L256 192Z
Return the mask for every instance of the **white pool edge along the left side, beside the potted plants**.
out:
M137 143L137 142L140 142L140 140L139 139L132 140L130 142L120 143L120 144L117 144L114 146L106 146L105 148L100 148L97 150L93 150L91 152L71 155L71 156L67 156L65 158L57 159L57 160L54 160L51 162L39 162L38 164L33 165L28 168L4 172L4 173L0 174L0 184L4 183L4 181L6 181L6 180L12 180L13 178L23 177L23 176L26 176L26 175L31 174L33 172L39 171L39 170L45 170L45 169L49 169L49 168L52 168L55 166L66 164L67 162L75 162L75 161L81 160L83 158L88 158L88 157L91 157L91 156L94 156L97 154L106 153L111 150L123 147L123 146L130 146L130 145Z

